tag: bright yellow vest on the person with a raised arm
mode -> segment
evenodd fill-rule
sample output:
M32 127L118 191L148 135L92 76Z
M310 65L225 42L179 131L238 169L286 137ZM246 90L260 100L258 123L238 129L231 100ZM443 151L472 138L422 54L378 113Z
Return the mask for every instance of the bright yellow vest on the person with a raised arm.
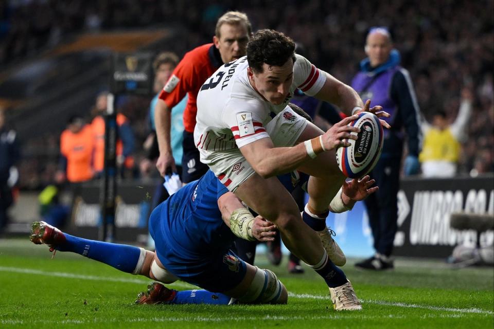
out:
M425 135L420 162L450 161L457 162L460 158L460 143L451 134L449 128L441 131L431 128Z

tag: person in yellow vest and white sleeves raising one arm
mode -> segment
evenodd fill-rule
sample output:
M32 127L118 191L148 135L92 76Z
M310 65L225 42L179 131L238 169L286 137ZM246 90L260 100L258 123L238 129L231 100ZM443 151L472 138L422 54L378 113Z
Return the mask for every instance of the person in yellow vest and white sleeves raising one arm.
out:
M420 152L422 175L424 177L453 177L460 159L460 142L465 140L465 129L472 109L472 92L464 88L460 111L450 124L445 111L437 111L432 125L422 121L424 147Z

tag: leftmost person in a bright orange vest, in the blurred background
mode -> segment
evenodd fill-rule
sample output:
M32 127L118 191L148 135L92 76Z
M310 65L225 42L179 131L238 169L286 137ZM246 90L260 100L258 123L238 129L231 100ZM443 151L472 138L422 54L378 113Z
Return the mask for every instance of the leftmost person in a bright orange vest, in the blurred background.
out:
M94 142L91 126L79 115L67 122L60 136L60 168L56 175L58 184L68 181L77 184L93 178Z

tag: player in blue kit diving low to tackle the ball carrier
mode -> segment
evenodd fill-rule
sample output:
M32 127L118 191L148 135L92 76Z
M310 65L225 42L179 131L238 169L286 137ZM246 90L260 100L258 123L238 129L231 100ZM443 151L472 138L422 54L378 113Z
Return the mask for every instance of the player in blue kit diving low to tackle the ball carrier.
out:
M279 178L288 190L304 183L304 179L293 180L290 174ZM343 193L355 203L378 189L371 188L373 184L368 176L354 179L344 183ZM272 241L275 226L254 217L213 172L208 171L157 206L151 213L149 230L155 252L82 239L44 222L33 223L31 241L47 244L51 251L76 252L162 283L183 280L205 289L176 291L155 282L138 296L138 303L227 304L232 298L240 303L287 302L287 290L272 271L247 264L229 250L237 236ZM340 275L344 276L343 271Z

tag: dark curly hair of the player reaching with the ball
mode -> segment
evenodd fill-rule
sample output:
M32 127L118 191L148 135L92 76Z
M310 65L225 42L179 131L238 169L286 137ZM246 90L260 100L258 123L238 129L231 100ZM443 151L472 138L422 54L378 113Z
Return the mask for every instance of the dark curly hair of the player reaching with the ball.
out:
M275 30L259 30L247 44L247 61L256 73L264 63L283 66L290 58L295 62L295 42Z

